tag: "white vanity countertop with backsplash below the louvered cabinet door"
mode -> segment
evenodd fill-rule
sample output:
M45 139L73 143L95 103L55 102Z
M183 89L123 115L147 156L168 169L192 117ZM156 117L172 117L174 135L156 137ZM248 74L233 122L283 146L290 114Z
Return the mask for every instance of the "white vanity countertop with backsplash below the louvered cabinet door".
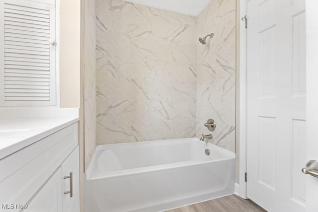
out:
M78 122L78 111L0 109L0 159Z

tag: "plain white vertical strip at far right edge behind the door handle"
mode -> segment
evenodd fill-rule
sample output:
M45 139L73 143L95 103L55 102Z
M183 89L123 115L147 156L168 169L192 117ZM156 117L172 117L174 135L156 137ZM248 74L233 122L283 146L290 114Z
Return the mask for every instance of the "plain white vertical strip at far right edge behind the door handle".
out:
M318 78L317 72L317 57L318 57L318 18L317 18L318 2L316 0L306 0L306 69L307 69L307 143L306 143L306 157L309 160L318 160L317 151L318 146L310 145L316 143L318 136L316 129L318 123L315 120L317 117L317 90ZM309 45L310 43L310 45ZM311 92L312 91L312 92ZM313 116L311 116L313 114ZM305 165L304 165L305 166ZM307 176L306 179L306 207L308 212L317 211L317 178Z

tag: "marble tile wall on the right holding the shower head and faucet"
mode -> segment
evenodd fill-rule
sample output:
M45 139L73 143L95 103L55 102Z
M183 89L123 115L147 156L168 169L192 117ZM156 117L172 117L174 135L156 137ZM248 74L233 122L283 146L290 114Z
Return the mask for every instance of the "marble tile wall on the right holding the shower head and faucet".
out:
M212 0L197 17L197 37L214 33L207 44L197 44L196 134L216 121L211 142L235 152L236 1Z

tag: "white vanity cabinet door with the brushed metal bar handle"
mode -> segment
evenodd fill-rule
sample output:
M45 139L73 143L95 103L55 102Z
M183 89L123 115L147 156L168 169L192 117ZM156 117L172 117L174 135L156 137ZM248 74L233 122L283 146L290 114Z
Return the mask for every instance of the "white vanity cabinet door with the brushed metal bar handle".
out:
M62 163L63 212L79 212L79 147Z

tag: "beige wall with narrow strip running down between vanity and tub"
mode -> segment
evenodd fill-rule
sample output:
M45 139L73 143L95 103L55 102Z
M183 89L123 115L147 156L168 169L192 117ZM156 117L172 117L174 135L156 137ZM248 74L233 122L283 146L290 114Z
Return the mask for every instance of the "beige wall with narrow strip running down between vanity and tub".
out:
M83 100L81 76L81 1L60 0L60 106L79 108L80 203L83 209Z

